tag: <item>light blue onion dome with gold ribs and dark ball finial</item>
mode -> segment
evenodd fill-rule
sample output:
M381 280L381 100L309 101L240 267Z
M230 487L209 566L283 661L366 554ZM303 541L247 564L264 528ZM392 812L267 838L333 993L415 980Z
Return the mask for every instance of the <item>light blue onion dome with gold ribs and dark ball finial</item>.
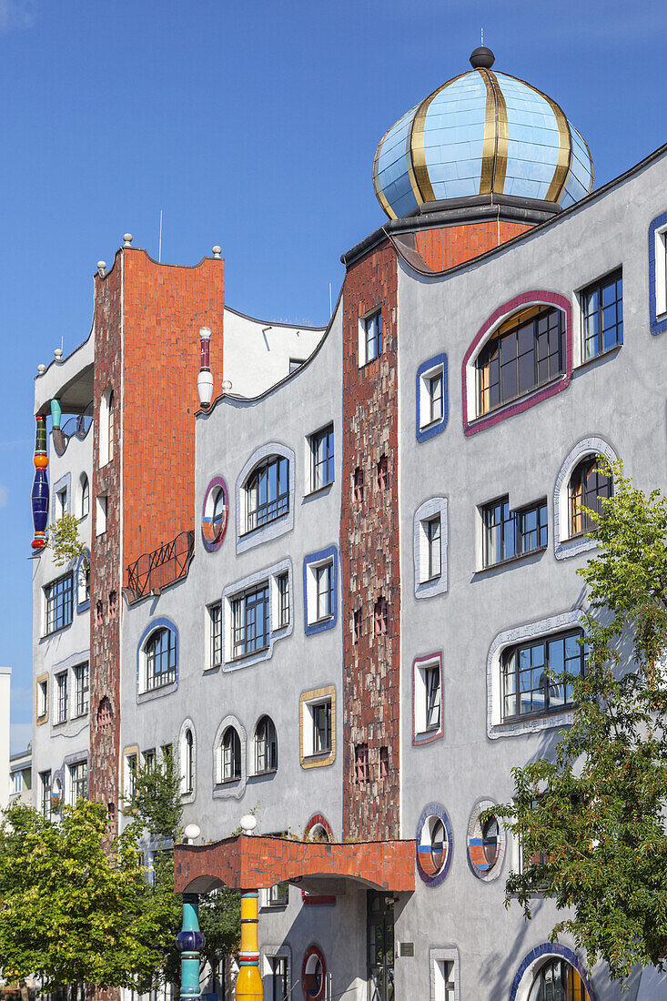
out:
M473 195L536 198L568 208L593 188L593 160L560 106L531 84L492 70L476 49L472 70L434 91L385 133L373 165L391 219L427 202Z

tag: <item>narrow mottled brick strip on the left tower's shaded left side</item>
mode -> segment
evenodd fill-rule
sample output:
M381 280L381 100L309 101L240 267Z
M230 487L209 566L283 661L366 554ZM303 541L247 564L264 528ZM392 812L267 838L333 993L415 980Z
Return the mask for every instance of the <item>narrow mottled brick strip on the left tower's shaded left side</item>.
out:
M93 377L92 545L90 561L90 797L109 808L109 830L118 830L120 753L119 615L109 619L109 595L120 596L120 455L122 256L116 253L104 278L95 277L95 368ZM99 412L102 394L114 396L116 443L113 458L99 467ZM107 494L106 532L97 535L97 497ZM101 603L98 623L97 603ZM109 707L99 713L100 704Z

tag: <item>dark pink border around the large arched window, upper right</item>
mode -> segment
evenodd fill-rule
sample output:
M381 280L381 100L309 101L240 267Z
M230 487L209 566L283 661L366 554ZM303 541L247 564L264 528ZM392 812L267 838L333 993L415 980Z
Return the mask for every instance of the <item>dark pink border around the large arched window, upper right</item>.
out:
M516 399L513 403L507 403L505 406L501 406L497 410L487 413L484 416L472 417L469 419L468 366L472 355L479 353L478 348L480 348L482 343L489 338L498 326L500 326L504 319L511 316L513 312L517 312L522 307L529 305L553 305L562 309L565 313L565 372L559 379L550 382L543 388L535 389L527 396L522 396L520 399ZM472 371L474 372L475 370L472 369ZM464 434L476 434L478 431L482 431L487 427L493 427L494 424L499 423L501 420L505 420L506 417L514 416L515 413L522 413L524 410L529 409L529 407L535 406L536 403L542 402L543 399L547 399L549 396L553 396L555 393L561 392L563 389L567 388L571 378L572 303L570 300L564 295L560 295L558 292L549 292L541 288L533 289L529 292L523 292L521 295L515 296L515 298L510 299L509 302L504 302L502 306L499 306L498 309L496 309L496 311L493 312L483 323L475 335L470 347L466 351L463 359L463 364L461 366L461 380Z

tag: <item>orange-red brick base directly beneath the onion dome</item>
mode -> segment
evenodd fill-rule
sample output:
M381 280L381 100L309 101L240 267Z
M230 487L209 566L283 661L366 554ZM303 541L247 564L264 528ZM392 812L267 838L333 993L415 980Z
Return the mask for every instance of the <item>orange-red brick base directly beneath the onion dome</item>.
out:
M507 222L504 219L488 222L467 222L463 226L443 229L424 229L416 233L418 252L434 271L444 271L464 260L478 257L487 250L511 240L513 236L532 229L532 223Z

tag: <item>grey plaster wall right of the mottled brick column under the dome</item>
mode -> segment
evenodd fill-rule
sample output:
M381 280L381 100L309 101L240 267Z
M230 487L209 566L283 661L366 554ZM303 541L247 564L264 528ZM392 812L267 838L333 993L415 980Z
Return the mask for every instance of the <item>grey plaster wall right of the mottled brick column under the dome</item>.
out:
M397 997L429 997L429 949L460 950L461 997L509 997L524 956L547 942L555 923L551 904L537 901L525 924L520 908L503 907L505 878L513 866L508 847L500 878L485 883L471 872L466 838L475 803L507 802L510 770L548 755L558 739L556 720L535 733L489 734L487 662L503 631L585 608L575 574L592 553L557 559L554 490L566 456L577 442L599 437L624 460L645 490L666 482L665 378L667 352L649 331L649 223L667 208L663 157L589 204L554 220L491 257L443 276L425 277L404 264L399 280L401 385L401 506L403 652L403 836L414 838L423 809L440 803L454 835L449 874L417 891L397 922L397 936L415 940L416 959L397 963ZM581 338L577 291L622 266L623 346L577 368L569 386L525 412L466 437L462 362L485 320L503 303L532 289L566 296L574 307L573 338ZM449 423L431 440L416 440L418 366L446 351ZM518 563L480 573L477 507L509 492L510 506L546 496L549 546ZM417 600L413 516L433 496L448 498L446 594ZM558 630L554 624L553 630ZM442 739L413 747L413 661L443 652ZM564 944L573 948L567 938ZM617 997L604 971L596 971L599 998Z

